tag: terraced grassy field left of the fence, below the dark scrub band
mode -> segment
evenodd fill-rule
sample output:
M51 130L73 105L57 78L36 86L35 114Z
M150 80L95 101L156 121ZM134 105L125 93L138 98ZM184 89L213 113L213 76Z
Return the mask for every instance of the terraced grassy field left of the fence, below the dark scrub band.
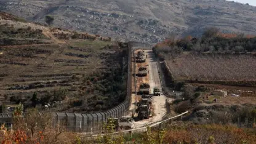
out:
M0 100L39 108L50 103L51 110L84 112L122 101L126 47L103 41L67 42L0 48Z

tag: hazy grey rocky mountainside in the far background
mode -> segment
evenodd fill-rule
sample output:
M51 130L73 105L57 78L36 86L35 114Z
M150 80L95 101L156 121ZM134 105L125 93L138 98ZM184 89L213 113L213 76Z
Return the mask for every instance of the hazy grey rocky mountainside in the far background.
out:
M256 34L256 7L224 0L1 0L0 10L40 23L54 15L54 26L149 43L198 36L207 26Z

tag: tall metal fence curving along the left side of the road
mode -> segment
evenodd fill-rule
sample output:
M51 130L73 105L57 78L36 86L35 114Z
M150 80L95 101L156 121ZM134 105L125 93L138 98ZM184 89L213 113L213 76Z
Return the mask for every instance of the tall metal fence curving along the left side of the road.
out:
M128 42L127 95L124 102L110 110L100 113L52 113L53 126L57 126L57 124L63 122L63 124L66 124L67 130L97 134L101 132L103 127L102 125L106 122L106 119L110 117L119 118L121 116L127 116L127 114L129 114L130 97L132 94L132 49L136 49L136 47L148 47L148 49L150 49L151 45L142 42ZM25 114L22 116L25 116ZM4 123L8 127L11 127L12 117L12 113L0 114L0 124Z

